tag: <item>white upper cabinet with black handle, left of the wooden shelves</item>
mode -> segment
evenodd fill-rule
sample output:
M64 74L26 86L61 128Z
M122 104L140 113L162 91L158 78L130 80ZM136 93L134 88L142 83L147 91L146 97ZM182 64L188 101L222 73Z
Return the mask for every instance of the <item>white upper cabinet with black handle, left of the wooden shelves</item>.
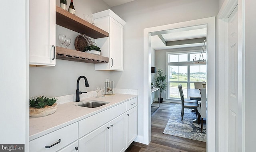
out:
M55 0L29 2L29 63L55 65Z

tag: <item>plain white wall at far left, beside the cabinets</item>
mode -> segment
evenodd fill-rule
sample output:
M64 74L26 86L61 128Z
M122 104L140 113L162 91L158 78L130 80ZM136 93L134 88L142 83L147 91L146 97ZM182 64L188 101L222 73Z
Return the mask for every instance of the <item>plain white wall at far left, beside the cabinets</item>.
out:
M0 10L0 144L25 144L28 141L28 1L6 0L1 3L6 7Z

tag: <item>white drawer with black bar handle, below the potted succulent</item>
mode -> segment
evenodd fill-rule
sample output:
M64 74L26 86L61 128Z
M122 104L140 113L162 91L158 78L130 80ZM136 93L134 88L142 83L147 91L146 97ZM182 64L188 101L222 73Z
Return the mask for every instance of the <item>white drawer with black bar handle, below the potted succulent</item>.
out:
M60 142L59 142L60 139ZM31 140L29 142L30 152L56 152L78 139L78 122L60 128L54 132ZM59 143L58 143L59 142ZM58 144L56 144L58 143ZM54 146L45 148L45 146Z

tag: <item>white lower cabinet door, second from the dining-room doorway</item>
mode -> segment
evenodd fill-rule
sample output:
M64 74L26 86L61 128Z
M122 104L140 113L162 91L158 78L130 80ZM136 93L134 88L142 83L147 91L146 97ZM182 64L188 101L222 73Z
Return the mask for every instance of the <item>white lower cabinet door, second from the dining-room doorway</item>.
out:
M126 150L126 116L125 113L109 122L110 124L110 152L124 152Z

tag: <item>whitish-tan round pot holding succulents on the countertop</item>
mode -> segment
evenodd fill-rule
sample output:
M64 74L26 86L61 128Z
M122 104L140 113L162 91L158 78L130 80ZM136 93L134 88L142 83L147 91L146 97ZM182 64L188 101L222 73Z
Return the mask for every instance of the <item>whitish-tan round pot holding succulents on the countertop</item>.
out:
M57 109L57 103L54 103L52 106L46 106L44 108L29 108L29 116L31 117L41 117L41 116L48 116L53 114Z

